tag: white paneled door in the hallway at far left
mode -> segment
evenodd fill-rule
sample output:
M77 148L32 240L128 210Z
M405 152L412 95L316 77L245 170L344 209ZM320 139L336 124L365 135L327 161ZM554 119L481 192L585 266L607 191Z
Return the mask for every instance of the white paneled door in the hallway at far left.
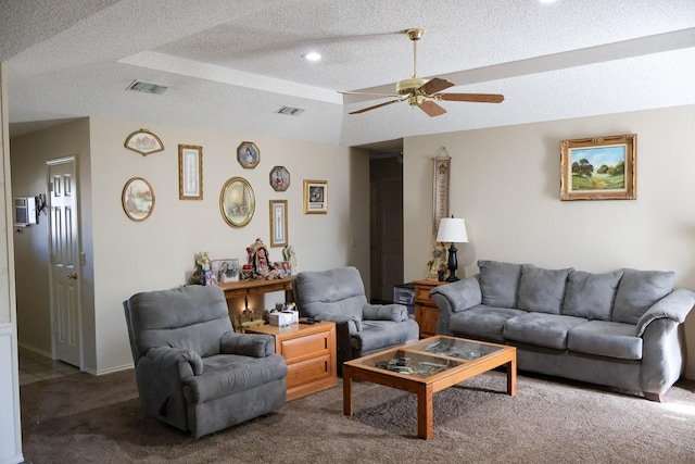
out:
M81 367L79 235L75 158L48 162L51 326L54 358Z

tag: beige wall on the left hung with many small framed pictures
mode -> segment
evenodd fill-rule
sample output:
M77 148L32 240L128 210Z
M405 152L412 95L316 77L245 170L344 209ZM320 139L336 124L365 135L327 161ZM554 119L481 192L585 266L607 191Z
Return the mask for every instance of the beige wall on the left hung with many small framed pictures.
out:
M83 298L85 336L87 341L93 337L93 346L86 344L90 351L85 355L87 371L105 373L131 365L122 302L132 293L186 283L199 251L205 250L213 258L245 260L245 248L256 238L269 246L270 199L288 200L288 238L295 249L300 271L350 264L359 267L365 283L369 281L368 193L359 193L368 192L366 151L101 117L79 124L88 124L87 135L72 133L64 138L62 130L70 130L71 126L61 126L62 130L49 129L13 139L12 160L14 167L14 163L29 163L24 156L58 158L47 155L49 151L78 155L83 251L87 258L83 294L93 294L92 308L87 301L90 298ZM127 135L141 127L162 139L163 152L142 156L123 147ZM71 140L85 136L89 148L74 148ZM245 140L255 142L261 151L261 162L255 170L243 170L236 160L236 149ZM201 201L178 199L179 143L203 147ZM34 183L35 178L39 185L45 183L47 170L41 163L25 170L15 185ZM269 172L275 165L283 165L290 172L291 185L286 192L276 192L269 185ZM88 172L83 174L85 170ZM125 215L121 204L123 187L134 176L148 179L155 193L152 215L137 223ZM256 197L255 214L251 223L241 228L228 226L219 213L219 190L232 176L249 180ZM327 215L303 214L303 179L328 180ZM30 242L45 247L47 236ZM40 254L39 261L48 259L45 253ZM281 248L271 248L270 259L279 261ZM22 260L17 260L17 265L23 265ZM45 263L43 267L47 267ZM30 287L17 284L18 293L30 291L34 291ZM48 289L41 291L46 294L39 305L48 311ZM264 304L269 308L281 299L281 293L273 293ZM18 304L18 310L35 311L23 304ZM46 313L33 321L21 321L21 327L37 326L43 340L50 330ZM23 334L21 342L24 342Z

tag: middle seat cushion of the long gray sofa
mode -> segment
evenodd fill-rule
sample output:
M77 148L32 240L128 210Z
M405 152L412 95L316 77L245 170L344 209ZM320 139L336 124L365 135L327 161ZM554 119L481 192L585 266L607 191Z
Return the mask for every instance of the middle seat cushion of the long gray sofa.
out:
M540 347L567 349L567 335L586 324L583 317L559 314L528 313L513 317L504 324L504 338Z

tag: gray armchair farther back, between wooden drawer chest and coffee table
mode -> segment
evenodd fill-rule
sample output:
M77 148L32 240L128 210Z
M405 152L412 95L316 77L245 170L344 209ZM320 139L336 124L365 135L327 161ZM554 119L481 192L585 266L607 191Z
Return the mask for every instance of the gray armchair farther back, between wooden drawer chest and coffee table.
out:
M402 304L369 304L359 271L299 273L292 285L301 316L336 323L338 367L354 358L415 341L417 323Z

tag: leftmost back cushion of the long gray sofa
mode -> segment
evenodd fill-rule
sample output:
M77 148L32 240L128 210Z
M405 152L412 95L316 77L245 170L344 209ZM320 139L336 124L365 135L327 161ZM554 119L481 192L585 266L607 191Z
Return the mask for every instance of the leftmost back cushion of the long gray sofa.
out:
M496 308L517 308L521 264L478 261L482 304Z

